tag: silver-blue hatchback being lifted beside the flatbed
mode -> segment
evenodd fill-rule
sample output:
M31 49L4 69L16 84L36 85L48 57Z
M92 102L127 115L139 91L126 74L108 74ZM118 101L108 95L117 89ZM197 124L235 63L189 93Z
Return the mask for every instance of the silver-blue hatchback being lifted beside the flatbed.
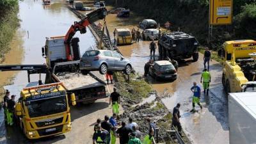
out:
M132 71L131 61L118 52L109 50L84 52L79 67L82 74L87 74L92 70L99 70L100 74L106 74L110 70L124 70L125 74L131 74Z

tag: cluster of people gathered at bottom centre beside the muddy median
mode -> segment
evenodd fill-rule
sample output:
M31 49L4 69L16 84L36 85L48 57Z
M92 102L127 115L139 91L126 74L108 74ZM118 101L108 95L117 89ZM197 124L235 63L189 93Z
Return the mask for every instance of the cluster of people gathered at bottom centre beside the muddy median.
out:
M120 140L120 144L141 144L139 126L136 122L133 122L132 118L129 118L127 124L123 121L120 125L120 122L118 122L120 120L120 94L116 92L116 88L113 89L113 93L111 93L109 97L109 105L111 104L113 115L110 118L108 115L105 115L103 121L101 121L100 118L97 119L94 126L93 144L115 144L117 137ZM146 121L148 123L148 134L143 139L143 143L152 144L156 128L150 118L147 118Z

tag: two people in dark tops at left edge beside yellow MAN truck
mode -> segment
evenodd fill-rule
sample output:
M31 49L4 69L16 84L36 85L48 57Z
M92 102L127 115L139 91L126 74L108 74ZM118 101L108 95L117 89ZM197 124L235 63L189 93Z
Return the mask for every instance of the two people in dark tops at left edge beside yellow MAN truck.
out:
M6 125L13 125L14 124L14 111L15 111L15 95L11 96L10 99L10 91L6 90L4 95L4 122Z

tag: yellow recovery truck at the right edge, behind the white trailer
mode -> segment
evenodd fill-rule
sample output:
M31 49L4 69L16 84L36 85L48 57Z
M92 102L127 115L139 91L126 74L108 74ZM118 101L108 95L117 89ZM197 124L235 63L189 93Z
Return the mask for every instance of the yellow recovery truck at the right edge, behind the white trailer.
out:
M218 55L223 58L222 84L225 92L256 90L256 41L227 41Z

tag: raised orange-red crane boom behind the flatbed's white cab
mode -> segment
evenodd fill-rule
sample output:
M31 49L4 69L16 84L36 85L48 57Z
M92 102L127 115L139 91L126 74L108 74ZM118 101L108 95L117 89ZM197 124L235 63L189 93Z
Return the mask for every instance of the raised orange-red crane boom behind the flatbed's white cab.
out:
M88 13L85 17L82 17L79 22L74 22L72 26L68 29L67 34L65 35L65 48L66 48L66 55L67 60L72 61L74 60L74 56L72 55L71 49L70 49L70 40L73 38L73 36L76 34L77 31L80 31L81 34L86 33L86 27L89 24L92 24L93 22L104 19L107 15L106 8L98 8L97 10L94 10L93 12Z

